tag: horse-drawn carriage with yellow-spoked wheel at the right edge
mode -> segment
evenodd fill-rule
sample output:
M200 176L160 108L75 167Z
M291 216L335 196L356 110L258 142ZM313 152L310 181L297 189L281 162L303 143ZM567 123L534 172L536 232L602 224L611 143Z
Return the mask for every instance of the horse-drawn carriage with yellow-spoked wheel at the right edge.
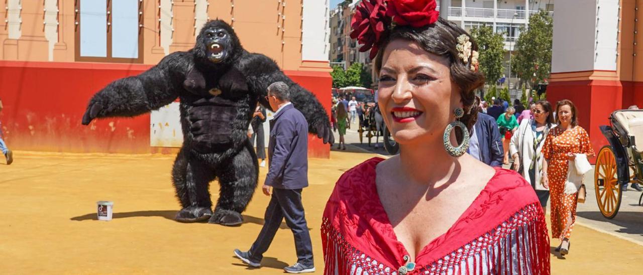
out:
M611 219L619 213L623 188L643 184L643 110L615 111L610 125L600 129L610 145L603 146L596 157L594 187L602 215ZM643 194L638 204L642 199Z

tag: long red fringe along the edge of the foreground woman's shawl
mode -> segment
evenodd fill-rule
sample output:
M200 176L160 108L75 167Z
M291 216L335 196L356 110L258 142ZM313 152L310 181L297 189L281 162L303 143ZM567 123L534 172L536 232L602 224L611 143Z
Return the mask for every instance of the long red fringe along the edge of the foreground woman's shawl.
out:
M529 204L487 233L406 274L550 274L549 236L539 203ZM361 253L323 217L324 274L399 274Z

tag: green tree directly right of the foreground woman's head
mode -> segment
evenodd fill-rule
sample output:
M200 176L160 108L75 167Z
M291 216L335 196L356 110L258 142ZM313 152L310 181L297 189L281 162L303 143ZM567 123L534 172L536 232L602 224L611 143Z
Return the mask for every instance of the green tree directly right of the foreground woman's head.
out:
M486 78L485 82L489 84L489 87L495 86L503 71L502 63L505 59L504 38L502 34L494 33L491 26L486 25L480 28L473 28L471 36L478 43L480 53L478 62L480 62L480 71Z

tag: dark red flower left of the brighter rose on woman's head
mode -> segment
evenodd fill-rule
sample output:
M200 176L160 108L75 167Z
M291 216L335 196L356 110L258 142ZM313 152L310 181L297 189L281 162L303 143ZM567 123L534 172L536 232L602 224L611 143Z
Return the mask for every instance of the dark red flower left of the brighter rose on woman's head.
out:
M379 40L388 30L391 18L386 16L385 0L363 0L356 8L350 26L350 38L357 39L363 44L359 51L370 49L370 58L377 55Z

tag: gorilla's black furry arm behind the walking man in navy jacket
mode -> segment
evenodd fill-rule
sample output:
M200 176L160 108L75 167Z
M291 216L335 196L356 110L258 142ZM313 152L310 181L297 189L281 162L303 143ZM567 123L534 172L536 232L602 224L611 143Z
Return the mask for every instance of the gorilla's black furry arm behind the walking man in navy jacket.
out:
M265 99L267 87L279 81L287 84L290 88L291 102L308 121L308 132L316 134L317 137L323 139L323 143L331 143L331 145L334 143L331 121L319 100L310 91L303 89L302 86L285 76L275 61L265 55L253 53L240 58L237 67L248 78L248 84L251 86L253 93L257 94L259 102L268 109L271 108Z

